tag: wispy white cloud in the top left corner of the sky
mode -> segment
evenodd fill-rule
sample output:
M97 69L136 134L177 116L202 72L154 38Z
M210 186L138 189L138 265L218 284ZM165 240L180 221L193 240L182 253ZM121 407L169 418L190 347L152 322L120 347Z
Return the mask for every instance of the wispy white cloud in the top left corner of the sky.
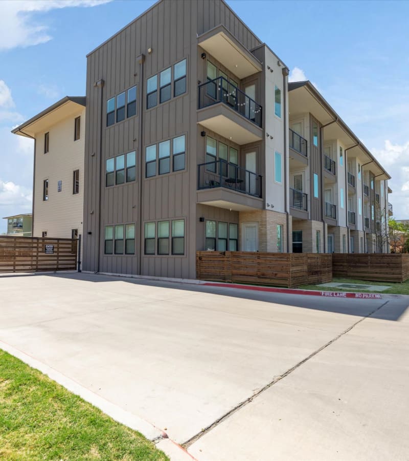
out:
M35 22L36 12L69 7L94 7L110 0L3 0L0 15L0 51L29 47L51 40L48 27Z

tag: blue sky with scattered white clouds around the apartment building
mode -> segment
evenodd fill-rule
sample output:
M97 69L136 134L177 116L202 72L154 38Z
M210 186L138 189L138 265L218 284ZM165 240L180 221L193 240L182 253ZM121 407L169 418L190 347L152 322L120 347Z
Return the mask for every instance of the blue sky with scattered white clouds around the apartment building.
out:
M10 130L65 95L84 95L85 55L153 3L0 3L0 217L31 211L32 142ZM392 176L395 217L409 218L409 2L228 3L377 156Z

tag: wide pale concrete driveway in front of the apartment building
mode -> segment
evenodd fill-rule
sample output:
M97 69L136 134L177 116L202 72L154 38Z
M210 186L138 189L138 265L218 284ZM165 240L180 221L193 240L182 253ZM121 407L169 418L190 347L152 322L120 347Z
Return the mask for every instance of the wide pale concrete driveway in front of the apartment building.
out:
M65 274L0 277L0 299L0 348L200 461L409 459L409 297Z

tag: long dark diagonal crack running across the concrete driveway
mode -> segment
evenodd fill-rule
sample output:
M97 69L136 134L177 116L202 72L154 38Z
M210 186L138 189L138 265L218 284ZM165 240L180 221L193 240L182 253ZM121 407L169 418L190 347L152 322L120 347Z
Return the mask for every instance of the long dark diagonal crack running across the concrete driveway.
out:
M232 416L234 413L236 413L237 411L239 411L241 408L245 407L247 404L249 404L250 402L252 402L256 397L258 397L261 393L265 392L267 389L269 389L271 386L274 386L276 383L278 383L279 381L281 381L283 378L285 378L286 376L288 376L290 373L292 373L294 370L296 370L297 368L299 368L301 365L303 365L304 363L308 362L308 360L312 359L317 353L321 352L322 350L326 349L328 346L330 346L332 343L334 343L335 341L337 341L339 338L343 337L344 334L348 333L349 331L351 331L354 327L356 327L356 325L358 325L360 322L362 322L363 320L365 319L368 319L369 317L371 317L375 312L377 312L378 310L380 310L383 306L385 306L386 304L389 303L389 300L388 301L385 301L382 305L380 305L379 307L377 307L376 309L374 309L372 312L369 312L366 316L360 318L357 322L353 323L350 327L348 327L345 331L343 331L342 333L339 333L338 336L336 336L335 338L333 338L331 341L328 341L328 343L324 344L323 346L321 346L319 349L316 349L314 352L312 352L310 355L308 355L308 357L306 357L305 359L303 359L301 362L298 362L296 365L294 365L293 367L289 368L287 371L285 371L283 374L279 375L279 376L274 376L274 378L272 379L272 381L270 381L269 383L267 383L264 387L262 387L261 389L259 389L257 392L255 392L253 395L251 395L250 397L248 397L246 400L244 400L243 402L240 402L238 405L236 405L234 408L232 408L230 411L228 411L227 413L224 413L222 416L220 416L216 421L214 421L212 424L210 424L209 426L207 426L206 428L202 429L200 432L198 432L197 434L193 435L193 437L189 438L186 442L180 444L181 447L187 449L189 448L192 444L194 444L195 442L198 441L199 438L201 438L203 435L207 434L208 432L210 432L212 429L214 429L216 426L218 426L219 424L221 424L223 421L225 421L226 419L228 419L230 416Z

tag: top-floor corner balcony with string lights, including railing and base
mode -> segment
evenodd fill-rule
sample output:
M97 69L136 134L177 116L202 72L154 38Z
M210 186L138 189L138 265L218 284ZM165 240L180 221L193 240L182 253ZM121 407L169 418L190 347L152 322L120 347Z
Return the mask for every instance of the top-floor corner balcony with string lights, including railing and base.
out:
M262 107L224 77L198 87L197 122L237 144L259 141Z

